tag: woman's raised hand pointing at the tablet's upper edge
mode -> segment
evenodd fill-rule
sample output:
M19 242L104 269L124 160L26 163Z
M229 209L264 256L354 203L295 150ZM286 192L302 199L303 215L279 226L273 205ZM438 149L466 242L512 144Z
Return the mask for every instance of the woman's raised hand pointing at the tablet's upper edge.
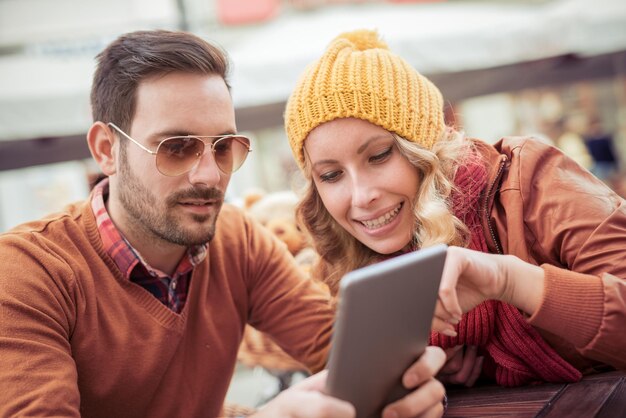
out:
M511 255L449 247L439 286L433 330L454 334L461 315L485 300L510 303L529 315L543 298L541 267Z

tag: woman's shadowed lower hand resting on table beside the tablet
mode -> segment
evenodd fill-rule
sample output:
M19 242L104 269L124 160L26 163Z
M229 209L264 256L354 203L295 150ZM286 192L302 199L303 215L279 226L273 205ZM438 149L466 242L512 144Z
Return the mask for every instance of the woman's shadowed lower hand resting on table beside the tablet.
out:
M437 379L443 384L474 386L480 377L484 357L479 356L475 345L457 345L444 350L447 356Z

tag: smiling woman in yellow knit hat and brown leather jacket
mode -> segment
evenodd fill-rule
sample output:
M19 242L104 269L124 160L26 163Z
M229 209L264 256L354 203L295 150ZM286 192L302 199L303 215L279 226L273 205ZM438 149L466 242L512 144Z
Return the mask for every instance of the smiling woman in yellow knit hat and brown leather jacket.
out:
M446 127L436 86L372 31L307 67L285 126L331 290L355 268L450 245L432 343L454 358L451 381L626 368L626 202L558 149Z

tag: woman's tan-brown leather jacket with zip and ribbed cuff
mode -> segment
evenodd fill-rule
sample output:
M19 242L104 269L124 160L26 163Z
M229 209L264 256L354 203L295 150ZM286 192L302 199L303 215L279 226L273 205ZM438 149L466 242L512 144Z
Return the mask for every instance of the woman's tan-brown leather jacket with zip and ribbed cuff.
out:
M538 140L476 145L489 166L481 218L490 251L546 274L530 324L583 373L626 369L626 201Z

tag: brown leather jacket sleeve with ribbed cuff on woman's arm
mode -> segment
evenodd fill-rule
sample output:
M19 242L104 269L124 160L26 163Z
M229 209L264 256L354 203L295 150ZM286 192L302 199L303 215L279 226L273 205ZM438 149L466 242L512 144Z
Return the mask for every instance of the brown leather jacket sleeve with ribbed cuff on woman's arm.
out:
M556 148L517 152L526 243L546 278L530 323L626 369L626 202Z

